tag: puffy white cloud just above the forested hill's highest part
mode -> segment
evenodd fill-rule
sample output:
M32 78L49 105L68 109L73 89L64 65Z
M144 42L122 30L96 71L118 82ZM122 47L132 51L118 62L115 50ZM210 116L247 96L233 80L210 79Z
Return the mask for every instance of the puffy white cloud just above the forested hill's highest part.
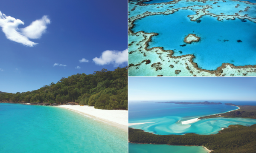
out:
M98 58L95 57L93 61L98 65L114 64L118 66L123 62L128 62L128 49L124 51L103 51L102 55Z

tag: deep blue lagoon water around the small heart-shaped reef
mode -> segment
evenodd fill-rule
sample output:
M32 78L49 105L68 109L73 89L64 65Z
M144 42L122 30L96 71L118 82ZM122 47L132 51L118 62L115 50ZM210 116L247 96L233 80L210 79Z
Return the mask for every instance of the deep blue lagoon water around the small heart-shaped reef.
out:
M203 69L215 70L222 63L256 65L256 23L241 22L237 18L218 21L211 16L203 16L197 23L187 17L192 14L195 11L180 10L174 14L147 16L136 20L132 30L158 33L152 37L149 48L160 46L174 50L174 56L194 54L194 62ZM183 40L188 34L196 34L201 40L180 46L185 44Z

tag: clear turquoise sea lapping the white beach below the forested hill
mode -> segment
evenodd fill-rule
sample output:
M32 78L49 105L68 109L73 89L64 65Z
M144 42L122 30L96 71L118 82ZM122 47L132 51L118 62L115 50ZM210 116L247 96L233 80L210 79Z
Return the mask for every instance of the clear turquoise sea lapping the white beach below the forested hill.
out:
M0 103L0 153L127 153L127 133L51 106Z

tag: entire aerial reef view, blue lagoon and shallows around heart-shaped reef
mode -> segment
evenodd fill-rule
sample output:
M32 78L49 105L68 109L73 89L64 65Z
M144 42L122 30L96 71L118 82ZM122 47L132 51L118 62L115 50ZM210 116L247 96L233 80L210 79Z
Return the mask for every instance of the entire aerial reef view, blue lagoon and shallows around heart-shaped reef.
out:
M129 76L256 76L255 9L237 0L129 3Z

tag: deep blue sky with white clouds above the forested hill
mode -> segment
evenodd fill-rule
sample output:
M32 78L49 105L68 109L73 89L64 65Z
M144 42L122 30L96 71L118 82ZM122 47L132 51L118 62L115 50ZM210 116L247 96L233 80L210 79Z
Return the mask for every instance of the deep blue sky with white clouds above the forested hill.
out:
M0 91L127 66L126 0L0 1Z

